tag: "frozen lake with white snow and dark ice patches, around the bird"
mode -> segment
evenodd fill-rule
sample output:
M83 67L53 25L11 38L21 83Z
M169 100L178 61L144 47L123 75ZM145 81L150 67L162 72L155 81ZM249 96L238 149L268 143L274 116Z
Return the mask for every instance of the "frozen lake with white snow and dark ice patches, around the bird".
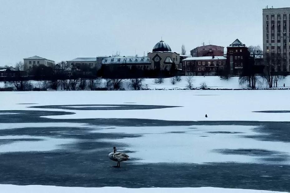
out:
M0 184L290 191L289 94L1 92Z

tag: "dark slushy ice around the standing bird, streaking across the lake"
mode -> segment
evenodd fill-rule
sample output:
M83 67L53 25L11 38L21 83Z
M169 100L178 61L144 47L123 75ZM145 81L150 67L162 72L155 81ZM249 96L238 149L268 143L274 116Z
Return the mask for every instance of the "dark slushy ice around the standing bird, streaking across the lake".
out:
M16 114L3 115L1 113ZM191 128L194 128L195 125L233 125L233 127L235 125L253 125L258 127L255 131L258 131L260 134L247 137L260 141L290 143L290 122L192 122L147 119L54 120L40 117L65 114L72 113L60 111L0 111L0 123L84 123L111 127L185 125ZM122 186L131 188L213 186L290 191L290 166L279 164L280 161L289 160L289 157L284 155L283 152L274 152L267 149L214 150L226 155L246 154L249 156L258 156L265 159L265 161L269 161L270 164L231 162L207 164L134 164L134 159L132 159L128 162L122 162L121 168L114 168L112 165L116 163L108 159L108 153L112 151L113 146L117 145L119 148L126 148L126 144L112 144L105 141L96 142L96 140L123 139L128 137L138 138L141 135L92 133L91 131L92 129L88 127L0 129L0 136L31 135L34 137L31 139L0 139L0 145L23 140L37 141L41 140L37 139L37 137L43 136L75 139L75 143L63 145L64 148L60 150L0 154L0 184L40 184L84 187ZM230 135L232 133L228 134ZM171 153L169 156L174 156L174 153Z

